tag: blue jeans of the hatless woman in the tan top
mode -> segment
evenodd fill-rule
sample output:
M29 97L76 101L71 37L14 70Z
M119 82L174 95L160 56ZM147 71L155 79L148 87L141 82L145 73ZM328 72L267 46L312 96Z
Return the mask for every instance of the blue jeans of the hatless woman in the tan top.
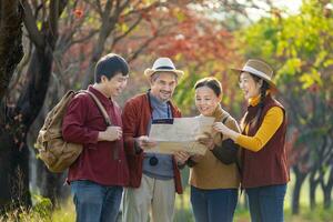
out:
M196 222L231 222L238 204L238 189L191 186L191 203Z

